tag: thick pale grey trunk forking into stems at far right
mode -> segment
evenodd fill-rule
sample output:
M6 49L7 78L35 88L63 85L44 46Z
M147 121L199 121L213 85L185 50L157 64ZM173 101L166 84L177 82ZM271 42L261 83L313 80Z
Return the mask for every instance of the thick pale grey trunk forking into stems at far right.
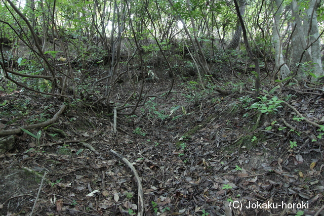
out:
M319 36L317 28L317 18L315 16L316 10L314 10L315 2L316 0L311 0L309 5L310 7L308 10L306 10L309 22L311 22L311 28L308 28L309 33L305 35L305 28L302 26L302 19L299 15L299 4L296 0L292 1L292 16L295 18L293 23L293 27L295 28L293 29L292 33L292 66L294 67L294 74L298 74L298 76L300 77L305 77L306 75L309 75L305 72L311 72L315 74L315 76L323 74L320 61L320 50L318 51L318 49L320 49L319 41L315 41ZM308 23L307 19L304 19L303 21ZM311 35L310 41L307 39L308 37L306 37L308 35ZM313 42L313 44L311 47L309 47L311 42ZM302 65L299 65L299 63Z

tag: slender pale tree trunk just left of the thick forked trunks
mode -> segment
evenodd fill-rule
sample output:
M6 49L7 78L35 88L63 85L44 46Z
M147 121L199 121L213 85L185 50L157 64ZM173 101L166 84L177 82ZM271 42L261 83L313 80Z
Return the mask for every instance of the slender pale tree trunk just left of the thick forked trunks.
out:
M280 16L282 13L282 1L281 0L275 0L275 4L277 6L277 11L274 15L274 24L273 24L273 30L272 30L272 42L275 50L275 66L278 69L282 64L284 64L284 57L282 56L282 44L281 39L279 36L279 26L280 26ZM290 70L288 66L282 65L280 67L280 77L282 79L285 79L290 75Z

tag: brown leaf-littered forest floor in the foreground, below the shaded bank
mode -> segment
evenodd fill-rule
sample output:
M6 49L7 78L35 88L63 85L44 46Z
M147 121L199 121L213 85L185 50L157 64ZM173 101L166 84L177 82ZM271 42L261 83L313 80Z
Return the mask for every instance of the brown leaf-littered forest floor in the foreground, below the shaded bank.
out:
M170 80L155 85L164 93ZM0 215L30 215L35 200L33 215L137 213L134 173L110 150L137 170L145 215L324 215L318 128L282 103L261 115L249 92L227 88L233 91L225 97L178 79L168 100L150 99L135 115L118 116L116 133L112 116L83 102L68 105L39 144L23 133L14 150L0 154ZM323 124L316 88L273 94ZM27 91L1 98L9 103L0 108L0 129L49 119L62 103Z

